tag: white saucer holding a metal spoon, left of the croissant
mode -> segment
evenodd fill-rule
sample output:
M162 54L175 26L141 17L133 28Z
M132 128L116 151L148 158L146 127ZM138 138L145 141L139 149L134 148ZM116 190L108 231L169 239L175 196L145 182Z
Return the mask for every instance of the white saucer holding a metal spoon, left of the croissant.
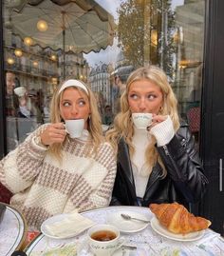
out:
M145 215L140 214L135 211L122 210L122 211L116 211L116 212L109 214L106 218L106 222L108 224L117 226L119 228L119 230L123 233L139 232L140 230L144 229L146 226L149 225L149 223L143 223L143 222L136 221L136 220L124 220L121 217L121 213L128 214L131 217L140 218L145 221L149 221L149 220L147 219L147 217Z

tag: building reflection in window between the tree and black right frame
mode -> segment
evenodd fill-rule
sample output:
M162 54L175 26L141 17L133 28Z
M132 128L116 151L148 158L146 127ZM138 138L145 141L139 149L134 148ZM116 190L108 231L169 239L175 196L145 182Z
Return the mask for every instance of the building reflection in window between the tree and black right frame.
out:
M190 108L198 107L201 95L201 72L204 39L204 1L186 2L176 9L176 81L179 113L186 117Z

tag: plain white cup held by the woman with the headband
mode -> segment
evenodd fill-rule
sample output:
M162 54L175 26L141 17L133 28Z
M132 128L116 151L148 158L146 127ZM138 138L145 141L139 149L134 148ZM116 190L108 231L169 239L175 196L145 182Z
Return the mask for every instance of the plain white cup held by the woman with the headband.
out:
M65 120L65 129L71 138L79 138L84 131L84 119Z

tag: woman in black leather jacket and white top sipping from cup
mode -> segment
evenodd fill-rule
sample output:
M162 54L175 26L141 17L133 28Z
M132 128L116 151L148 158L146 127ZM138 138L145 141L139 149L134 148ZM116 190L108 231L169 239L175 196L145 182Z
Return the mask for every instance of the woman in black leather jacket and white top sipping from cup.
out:
M137 128L133 113L152 113L148 128ZM144 206L202 198L208 184L194 137L177 115L177 99L156 66L133 71L121 95L121 112L107 140L118 152L111 205Z

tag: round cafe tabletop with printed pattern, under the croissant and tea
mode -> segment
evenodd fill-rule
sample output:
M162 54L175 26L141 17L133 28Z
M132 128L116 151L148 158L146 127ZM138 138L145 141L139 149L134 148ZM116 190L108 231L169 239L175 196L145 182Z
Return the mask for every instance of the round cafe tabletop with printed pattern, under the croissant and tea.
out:
M111 222L114 222L112 224L120 226L122 230L123 227L119 219L116 219L118 215L121 215L121 212L129 213L132 216L143 217L151 221L155 219L154 214L148 207L104 207L85 211L82 215L93 220L96 224L111 224ZM137 221L133 222L133 225L128 226L128 230L123 229L123 231L121 231L121 237L125 238L125 245L121 246L113 256L224 255L224 239L220 234L210 228L204 230L202 234L200 233L199 238L193 238L193 241L185 241L182 239L178 240L177 238L177 240L174 240L173 238L171 239L164 236L164 234L160 234L152 228L152 222L151 224L140 224L139 222L138 226L135 227L137 223ZM92 256L87 246L86 234L87 231L85 230L83 233L69 239L54 239L40 234L25 248L25 251L28 256L75 256L76 254L72 254L70 250L74 248L77 250L77 255Z

